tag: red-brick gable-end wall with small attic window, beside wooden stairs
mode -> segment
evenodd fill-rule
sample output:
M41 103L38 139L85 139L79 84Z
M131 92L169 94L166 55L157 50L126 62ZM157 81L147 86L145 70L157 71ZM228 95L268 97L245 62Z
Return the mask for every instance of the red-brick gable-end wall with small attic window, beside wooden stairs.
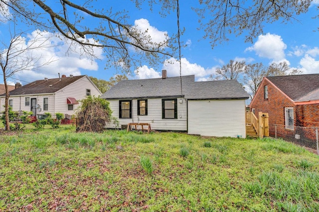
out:
M268 86L268 99L264 99L264 86L266 85ZM255 95L254 101L250 105L250 108L255 108L256 117L258 117L259 111L268 112L269 124L282 125L285 124L285 107L294 107L294 104L265 79L260 84L260 89ZM295 110L294 113L294 117L296 117ZM296 118L294 118L294 122L296 124Z

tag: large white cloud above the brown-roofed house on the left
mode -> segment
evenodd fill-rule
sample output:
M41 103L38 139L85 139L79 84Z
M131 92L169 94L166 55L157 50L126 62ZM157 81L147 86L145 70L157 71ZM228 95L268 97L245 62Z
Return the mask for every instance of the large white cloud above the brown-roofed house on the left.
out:
M92 39L89 42L94 42ZM92 57L83 52L83 48L70 40L61 40L59 34L52 34L46 31L35 30L26 37L19 39L17 48L23 49L26 47L36 47L32 51L26 51L21 57L32 58L33 67L38 67L36 70L23 70L17 72L14 78L26 82L47 78L57 78L58 73L61 75L70 74L77 76L81 75L81 69L98 70L98 63L92 60ZM42 46L38 48L38 46ZM68 51L69 50L69 51ZM96 58L103 58L103 50L94 47L91 49ZM17 58L18 59L18 58ZM45 62L47 65L39 67ZM13 62L13 61L12 61ZM26 84L22 82L22 84Z

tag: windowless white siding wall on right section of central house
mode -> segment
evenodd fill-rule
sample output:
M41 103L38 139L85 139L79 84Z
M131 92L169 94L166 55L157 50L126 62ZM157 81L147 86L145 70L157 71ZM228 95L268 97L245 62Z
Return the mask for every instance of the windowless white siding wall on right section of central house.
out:
M246 137L245 100L188 101L188 134Z

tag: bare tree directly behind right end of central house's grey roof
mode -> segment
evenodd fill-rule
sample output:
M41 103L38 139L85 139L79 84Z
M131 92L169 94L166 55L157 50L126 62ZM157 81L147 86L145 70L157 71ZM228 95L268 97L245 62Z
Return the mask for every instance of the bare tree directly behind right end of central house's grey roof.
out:
M245 71L245 62L230 60L228 64L216 69L217 80L236 80Z

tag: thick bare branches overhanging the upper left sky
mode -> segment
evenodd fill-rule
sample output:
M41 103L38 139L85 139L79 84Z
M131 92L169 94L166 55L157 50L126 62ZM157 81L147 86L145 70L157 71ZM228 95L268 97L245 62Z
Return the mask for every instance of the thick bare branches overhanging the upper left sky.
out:
M139 7L143 1L137 0L136 5ZM92 47L103 48L106 66L121 68L127 73L142 62L154 65L160 57L172 57L176 50L174 35L165 34L163 40L154 41L148 30L129 24L127 11L113 11L107 1L101 1L100 7L96 7L96 0L59 0L54 1L54 6L45 0L0 2L30 25L59 32L61 39L71 40L73 46L81 45L82 51L92 59L95 58ZM41 10L43 12L39 12Z

